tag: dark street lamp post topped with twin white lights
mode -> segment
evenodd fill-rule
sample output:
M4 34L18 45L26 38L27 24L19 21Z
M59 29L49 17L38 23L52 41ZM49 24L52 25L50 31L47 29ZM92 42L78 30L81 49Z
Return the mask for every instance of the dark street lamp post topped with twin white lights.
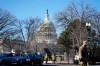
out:
M86 57L87 57L87 66L89 66L89 51L90 51L90 40L91 40L91 23L90 22L86 22L86 28L87 28L87 51L86 51Z

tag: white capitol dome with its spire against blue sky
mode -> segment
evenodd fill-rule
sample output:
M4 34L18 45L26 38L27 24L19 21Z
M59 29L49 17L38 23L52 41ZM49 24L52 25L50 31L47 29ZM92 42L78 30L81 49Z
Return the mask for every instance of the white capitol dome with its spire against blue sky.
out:
M40 43L46 42L46 44L54 44L56 42L56 39L56 29L53 22L49 19L49 14L47 10L45 19L42 21L42 24L37 31L37 40Z

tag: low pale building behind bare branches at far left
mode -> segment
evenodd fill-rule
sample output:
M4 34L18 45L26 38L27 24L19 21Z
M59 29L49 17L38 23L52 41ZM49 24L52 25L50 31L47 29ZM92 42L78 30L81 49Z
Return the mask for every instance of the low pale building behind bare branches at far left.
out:
M0 52L25 52L25 42L22 40L5 40L0 45Z

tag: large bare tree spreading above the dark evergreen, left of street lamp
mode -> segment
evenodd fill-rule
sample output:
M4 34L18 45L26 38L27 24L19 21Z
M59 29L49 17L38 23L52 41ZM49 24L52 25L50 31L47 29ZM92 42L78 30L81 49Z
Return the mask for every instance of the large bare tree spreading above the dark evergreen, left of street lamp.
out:
M77 30L71 32L72 38L75 38L77 45L80 46L82 40L86 38L86 22L91 22L93 15L95 14L95 9L90 7L84 2L81 3L71 3L63 11L58 12L55 16L58 24L64 28L67 28L71 22L78 19L79 24Z

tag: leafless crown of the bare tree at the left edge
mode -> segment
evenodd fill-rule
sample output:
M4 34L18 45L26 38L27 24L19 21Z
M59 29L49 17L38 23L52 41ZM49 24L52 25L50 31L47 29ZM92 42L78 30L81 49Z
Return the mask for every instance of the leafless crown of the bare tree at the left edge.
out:
M18 29L15 26L17 19L10 14L7 10L0 9L0 37L2 40L10 35L18 33Z

